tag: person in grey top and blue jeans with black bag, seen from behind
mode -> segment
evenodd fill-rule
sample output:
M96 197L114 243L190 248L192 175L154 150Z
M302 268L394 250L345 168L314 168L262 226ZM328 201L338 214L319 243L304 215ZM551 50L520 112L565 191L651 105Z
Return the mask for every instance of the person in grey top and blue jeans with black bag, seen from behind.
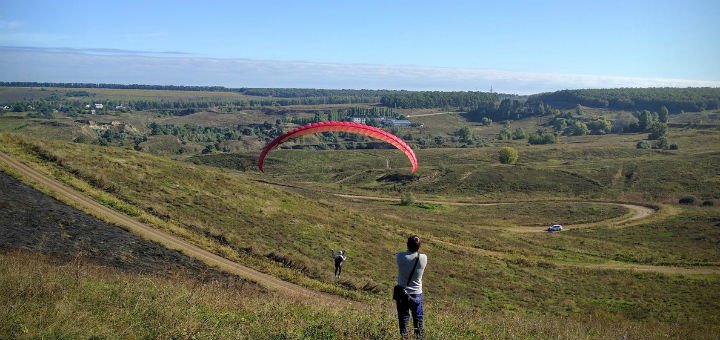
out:
M398 286L407 293L407 299L396 300L400 336L409 336L408 321L413 318L415 338L422 339L425 334L422 308L422 276L427 266L427 255L420 254L420 238L417 235L408 237L407 251L395 255L398 267Z

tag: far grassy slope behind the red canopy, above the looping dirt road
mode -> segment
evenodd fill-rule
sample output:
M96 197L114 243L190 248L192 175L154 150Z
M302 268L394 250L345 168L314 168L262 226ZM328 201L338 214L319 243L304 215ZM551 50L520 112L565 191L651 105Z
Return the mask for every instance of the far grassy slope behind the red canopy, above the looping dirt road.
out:
M638 150L645 134L567 138L561 144L530 146L521 142L517 165L501 165L499 148L416 150L417 177L395 150L276 150L266 160L266 175L278 182L313 182L343 190L386 195L411 191L473 200L621 199L677 202L684 195L720 198L716 130L677 129L671 139L680 150ZM255 154L199 156L194 162L254 172ZM391 169L387 169L387 164Z

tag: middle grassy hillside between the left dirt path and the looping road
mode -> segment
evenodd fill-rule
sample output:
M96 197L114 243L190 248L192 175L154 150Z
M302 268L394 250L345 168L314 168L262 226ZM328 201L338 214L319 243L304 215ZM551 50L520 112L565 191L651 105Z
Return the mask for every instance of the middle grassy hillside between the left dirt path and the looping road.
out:
M627 229L630 234L603 225L563 234L517 234L497 227L534 223L531 216L554 221L554 210L571 207L517 203L515 209L495 207L474 215L465 208L352 202L127 149L23 142L8 135L2 145L5 151L45 164L68 182L74 183L68 179L72 177L89 183L129 205L129 211L158 219L159 227L228 257L317 289L366 291L363 299L373 306L386 303L394 276L392 254L401 250L409 233L418 233L432 258L426 274L430 308L448 315L591 314L607 320L675 323L682 332L720 321L720 305L710 302L720 301L717 274L618 270L636 263L717 265L716 208L682 209L674 220L650 220ZM589 209L579 211L591 220L623 214L592 205L578 209ZM525 212L509 221L484 222L516 211ZM676 223L694 225L695 231L675 229ZM698 234L705 238L698 239ZM668 251L670 244L682 249ZM350 260L347 279L335 282L329 252L339 248L348 250ZM598 264L619 267L593 269Z

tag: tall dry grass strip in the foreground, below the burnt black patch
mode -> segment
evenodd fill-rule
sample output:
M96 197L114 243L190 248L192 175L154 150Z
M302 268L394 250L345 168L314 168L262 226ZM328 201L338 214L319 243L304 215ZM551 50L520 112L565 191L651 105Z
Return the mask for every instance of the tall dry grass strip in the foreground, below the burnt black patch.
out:
M53 264L55 263L55 264ZM621 285L622 282L617 282ZM620 298L613 308L632 303ZM570 300L558 300L568 309ZM542 317L506 312L457 314L426 302L429 339L710 339L717 325L693 327L612 320L587 312ZM57 264L29 253L0 253L2 338L394 339L387 305L340 310L247 286L184 276L120 272L80 261Z

